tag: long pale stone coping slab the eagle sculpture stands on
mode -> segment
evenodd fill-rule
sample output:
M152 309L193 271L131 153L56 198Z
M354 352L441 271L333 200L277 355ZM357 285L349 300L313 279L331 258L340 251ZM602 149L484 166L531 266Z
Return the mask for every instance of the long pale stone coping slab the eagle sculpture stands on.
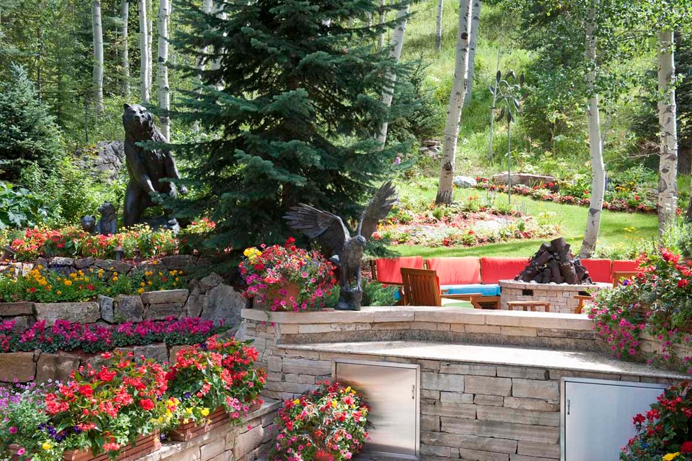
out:
M586 314L558 312L500 311L460 307L373 306L360 311L266 312L243 309L243 319L274 323L384 323L438 322L471 325L507 325L563 330L593 330Z

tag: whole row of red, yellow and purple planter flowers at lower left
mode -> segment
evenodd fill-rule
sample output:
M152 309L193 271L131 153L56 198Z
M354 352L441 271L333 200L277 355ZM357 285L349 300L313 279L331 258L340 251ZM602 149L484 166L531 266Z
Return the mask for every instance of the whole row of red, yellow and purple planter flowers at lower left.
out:
M5 415L0 419L0 456L22 461L81 456L73 451L114 456L141 436L186 419L203 420L212 405L224 405L231 410L229 417L240 421L264 387L264 371L254 368L257 351L216 337L203 344L180 351L171 369L134 353L104 353L104 365L80 367L66 383L0 390ZM190 351L196 351L192 363ZM212 371L206 368L208 360ZM176 380L185 367L198 369L202 381Z

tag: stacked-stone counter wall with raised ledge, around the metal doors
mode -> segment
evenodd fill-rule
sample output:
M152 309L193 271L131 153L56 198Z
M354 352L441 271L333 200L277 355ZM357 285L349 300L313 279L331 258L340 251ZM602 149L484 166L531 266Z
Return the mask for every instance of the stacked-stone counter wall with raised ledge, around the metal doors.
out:
M248 309L242 314L245 325L240 332L247 339L255 339L261 351L261 360L268 369L266 394L270 397L293 398L315 388L317 381L331 379L333 361L338 358L419 365L423 460L556 460L560 458L563 376L663 383L684 378L642 365L619 363L600 353L576 352L572 349L572 333L552 336L559 341L542 350L435 343L425 334L418 341L377 340L377 332L400 328L409 332L446 332L452 328L466 332L467 327L470 331L483 327L493 331L486 335L496 335L495 339L531 332L535 345L542 329L553 335L591 329L588 320L574 314L461 313L459 309L418 307L280 313L269 318L264 312ZM403 321L409 317L410 321ZM335 333L343 338L343 331L366 342L354 338L329 342ZM364 331L370 331L370 338L357 334ZM319 336L327 342L319 341ZM306 339L311 344L306 344ZM419 356L416 351L420 351ZM484 362L483 354L489 352L495 358ZM435 353L447 353L447 357L426 356Z

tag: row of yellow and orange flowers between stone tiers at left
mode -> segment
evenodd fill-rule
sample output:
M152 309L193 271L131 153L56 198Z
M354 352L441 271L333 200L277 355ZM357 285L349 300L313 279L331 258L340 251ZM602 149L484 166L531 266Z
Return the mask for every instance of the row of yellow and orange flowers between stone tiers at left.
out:
M13 268L0 274L0 302L80 302L94 300L98 295L113 297L185 286L187 277L180 270L138 269L122 275L89 268L66 275L38 265L27 275L15 274Z

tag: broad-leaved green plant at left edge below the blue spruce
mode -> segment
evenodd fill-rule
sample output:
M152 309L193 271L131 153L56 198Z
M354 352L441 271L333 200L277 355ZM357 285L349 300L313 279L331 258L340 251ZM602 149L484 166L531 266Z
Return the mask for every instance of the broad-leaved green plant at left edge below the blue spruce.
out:
M41 200L23 187L0 181L0 231L35 226L47 215Z

